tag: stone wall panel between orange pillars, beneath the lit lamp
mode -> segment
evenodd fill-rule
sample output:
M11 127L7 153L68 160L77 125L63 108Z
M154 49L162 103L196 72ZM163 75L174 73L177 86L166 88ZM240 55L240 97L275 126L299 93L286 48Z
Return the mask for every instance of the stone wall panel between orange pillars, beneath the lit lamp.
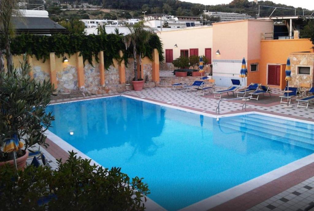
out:
M78 74L76 67L67 65L62 71L57 72L58 90L69 93L77 90Z

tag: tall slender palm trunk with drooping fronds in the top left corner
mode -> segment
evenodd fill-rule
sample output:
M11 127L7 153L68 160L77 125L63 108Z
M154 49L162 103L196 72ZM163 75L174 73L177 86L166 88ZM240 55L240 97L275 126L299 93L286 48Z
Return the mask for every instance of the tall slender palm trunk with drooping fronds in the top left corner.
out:
M0 0L0 31L4 37L5 55L7 59L8 71L13 70L12 54L10 49L11 37L14 34L14 27L12 25L12 16L21 16L19 10L19 0ZM1 46L0 46L1 47ZM0 48L0 57L3 54L3 49ZM3 70L3 60L0 59L0 71Z

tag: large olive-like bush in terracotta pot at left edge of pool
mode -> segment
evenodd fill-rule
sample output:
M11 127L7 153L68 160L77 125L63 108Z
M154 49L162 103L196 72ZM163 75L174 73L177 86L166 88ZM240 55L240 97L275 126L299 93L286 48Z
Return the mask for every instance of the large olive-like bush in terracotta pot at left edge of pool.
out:
M0 69L0 166L8 163L21 169L28 147L46 146L44 132L54 117L45 108L55 90L49 81L30 77L26 54L20 64L19 69Z

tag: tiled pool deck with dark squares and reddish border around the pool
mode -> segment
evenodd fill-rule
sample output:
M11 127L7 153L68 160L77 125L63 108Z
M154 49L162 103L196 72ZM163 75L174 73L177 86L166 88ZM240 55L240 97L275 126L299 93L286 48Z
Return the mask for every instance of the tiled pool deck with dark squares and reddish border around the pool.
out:
M217 88L219 90L219 88ZM197 96L196 91L185 92L171 88L149 88L143 91L127 91L121 94L130 95L138 98L145 98L159 103L165 103L181 108L188 108L204 113L215 114L215 110L219 99L213 99L213 94L205 94L205 96ZM279 89L273 89L273 102L263 104L261 98L259 101L249 101L246 111L259 111L264 113L272 113L280 116L287 116L296 119L314 121L314 104L310 104L309 108L297 108L296 102L292 101L292 108L284 108L284 104L280 104L279 95L283 92ZM103 97L106 95L97 95L95 97ZM70 100L87 99L91 97L72 98ZM276 98L278 100L276 100ZM65 102L67 100L57 100L56 102ZM242 101L225 101L221 103L220 114L239 113L242 110ZM56 168L56 158L66 160L68 153L62 150L51 140L47 140L50 145L48 149L43 149L47 154L48 162L52 168ZM210 211L257 211L257 210L304 210L309 204L314 202L314 162L292 171L278 179L267 184L257 187L247 193L244 193L230 201L220 204Z

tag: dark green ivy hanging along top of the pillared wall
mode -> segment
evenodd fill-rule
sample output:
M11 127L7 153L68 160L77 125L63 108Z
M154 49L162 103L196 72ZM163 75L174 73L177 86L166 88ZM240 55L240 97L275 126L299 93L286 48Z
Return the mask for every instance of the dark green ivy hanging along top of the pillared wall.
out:
M0 46L3 49L4 39L0 36ZM157 34L153 34L147 45L146 55L152 59L154 48L158 49L160 62L164 61L162 55L162 44ZM122 36L116 34L104 35L80 35L80 34L53 34L51 36L42 36L35 34L20 34L15 36L11 42L11 52L13 55L22 55L25 52L34 55L38 60L43 59L45 62L49 58L51 52L60 57L64 54L73 55L81 52L84 62L87 60L92 64L92 58L99 62L98 53L104 51L104 62L106 69L113 64L113 59L117 61L124 60L127 65L127 59L133 55L132 52L126 50L122 41ZM123 58L119 55L122 50Z

